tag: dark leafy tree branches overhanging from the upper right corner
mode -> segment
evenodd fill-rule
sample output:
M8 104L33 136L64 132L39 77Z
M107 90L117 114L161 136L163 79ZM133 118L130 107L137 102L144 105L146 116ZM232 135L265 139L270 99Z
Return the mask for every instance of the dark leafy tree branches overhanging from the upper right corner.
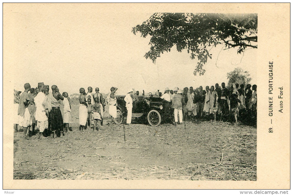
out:
M150 50L144 57L156 63L163 52L187 49L190 58L198 58L194 75L203 75L203 65L212 59L212 47L224 44L226 49L238 48L241 54L247 47L257 48L257 14L219 13L154 13L142 25L132 28L134 35L151 36Z

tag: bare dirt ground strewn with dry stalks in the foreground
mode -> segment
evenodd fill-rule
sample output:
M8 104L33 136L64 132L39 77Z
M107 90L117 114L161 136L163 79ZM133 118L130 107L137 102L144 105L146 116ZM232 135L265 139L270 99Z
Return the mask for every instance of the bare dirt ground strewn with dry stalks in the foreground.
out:
M106 124L107 112L105 117ZM25 140L23 132L14 134L14 179L256 180L251 126L186 121L82 132L78 109L72 119L73 131L63 138Z

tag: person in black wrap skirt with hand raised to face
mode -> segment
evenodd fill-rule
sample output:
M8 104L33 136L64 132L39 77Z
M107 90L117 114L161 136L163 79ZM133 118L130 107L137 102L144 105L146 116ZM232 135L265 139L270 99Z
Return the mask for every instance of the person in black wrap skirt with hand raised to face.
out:
M47 95L47 98L43 102L46 113L48 113L48 122L50 129L53 132L53 138L56 138L60 132L60 136L64 136L63 132L63 118L60 110L61 100L64 100L63 96L59 93L59 89L56 85L51 87L52 93ZM57 131L57 132L56 132Z

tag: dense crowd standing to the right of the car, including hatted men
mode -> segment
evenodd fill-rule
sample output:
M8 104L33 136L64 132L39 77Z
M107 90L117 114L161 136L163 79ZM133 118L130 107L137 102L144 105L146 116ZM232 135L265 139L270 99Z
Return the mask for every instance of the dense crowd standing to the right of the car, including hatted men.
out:
M225 83L218 83L215 86L206 86L203 90L202 86L193 89L193 87L185 87L183 90L177 87L174 90L165 89L162 95L159 90L156 95L162 99L172 102L174 108L175 124L185 120L205 119L211 122L229 121L238 124L239 121L256 125L257 117L257 93L256 85L252 86L244 84L239 86L234 83L228 89Z

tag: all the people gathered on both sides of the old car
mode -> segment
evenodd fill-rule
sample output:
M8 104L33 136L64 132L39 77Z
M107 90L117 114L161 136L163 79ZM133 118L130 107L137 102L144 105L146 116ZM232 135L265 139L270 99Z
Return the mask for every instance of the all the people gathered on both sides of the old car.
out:
M205 119L211 122L230 121L235 124L238 121L256 124L257 95L256 85L247 84L246 88L241 84L235 83L229 89L225 83L222 88L218 83L215 86L202 86L193 89L185 87L183 90L166 88L164 94L156 91L155 95L170 102L174 109L175 123L182 124L184 120ZM64 136L64 133L72 131L69 127L71 121L71 102L67 92L62 95L56 85L52 85L52 92L49 93L49 85L38 83L38 87L31 88L29 83L24 84L24 91L14 89L14 131L23 129L23 137L29 139L33 134L38 134L38 138L45 138L53 134L53 138ZM109 105L110 123L117 117L117 99L115 92L117 88L112 87L111 93L106 100ZM84 88L79 90L79 130L83 131L87 126L92 126L94 131L100 130L103 125L105 112L105 99L99 92L99 88L88 87L86 93ZM127 108L126 125L131 124L132 102L139 95L134 89L128 90L124 101ZM143 93L144 95L144 93ZM152 95L149 93L149 95ZM60 110L61 101L63 102L63 117ZM178 122L179 116L179 122ZM92 121L94 124L92 124ZM18 127L19 126L19 127Z

